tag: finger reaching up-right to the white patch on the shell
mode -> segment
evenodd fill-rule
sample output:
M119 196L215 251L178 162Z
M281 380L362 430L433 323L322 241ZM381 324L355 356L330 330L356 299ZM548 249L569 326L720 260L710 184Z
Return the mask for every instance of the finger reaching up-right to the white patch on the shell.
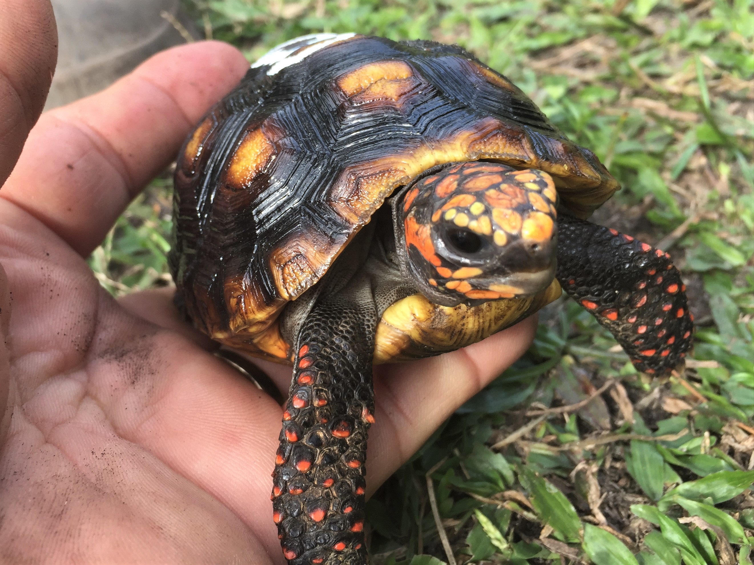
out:
M45 112L0 196L88 255L247 69L217 41L158 53L107 90Z

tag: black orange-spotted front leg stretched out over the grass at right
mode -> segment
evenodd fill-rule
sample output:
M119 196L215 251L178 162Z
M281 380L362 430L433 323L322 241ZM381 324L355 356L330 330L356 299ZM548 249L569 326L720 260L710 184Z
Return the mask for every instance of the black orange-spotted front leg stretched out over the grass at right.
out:
M637 370L667 373L691 349L686 287L660 249L559 213L557 279L615 335Z

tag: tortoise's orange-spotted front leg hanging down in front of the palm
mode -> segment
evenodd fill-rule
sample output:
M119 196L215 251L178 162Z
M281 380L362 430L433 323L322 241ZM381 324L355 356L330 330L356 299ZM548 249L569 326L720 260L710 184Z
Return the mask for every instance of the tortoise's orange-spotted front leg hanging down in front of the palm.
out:
M367 563L364 463L374 422L375 325L371 301L335 296L315 305L299 332L272 474L273 518L290 565Z

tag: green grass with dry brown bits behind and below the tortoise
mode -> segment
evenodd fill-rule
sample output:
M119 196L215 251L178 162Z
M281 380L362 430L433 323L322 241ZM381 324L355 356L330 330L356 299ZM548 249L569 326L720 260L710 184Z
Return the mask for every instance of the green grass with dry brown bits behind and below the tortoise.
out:
M684 374L637 374L573 301L369 501L374 563L752 563L751 0L185 0L249 60L310 32L461 44L624 186L596 221L670 251L698 329ZM166 284L170 181L91 258ZM588 402L586 402L588 401Z

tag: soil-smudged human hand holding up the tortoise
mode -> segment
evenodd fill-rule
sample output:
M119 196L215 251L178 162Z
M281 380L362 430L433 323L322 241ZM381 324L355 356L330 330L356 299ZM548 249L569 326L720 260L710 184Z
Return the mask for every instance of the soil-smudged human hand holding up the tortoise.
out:
M284 563L269 499L282 409L211 354L170 292L115 301L84 261L247 62L217 42L178 47L29 133L54 68L52 11L0 11L0 183L13 169L0 190L0 561ZM368 493L534 330L376 368ZM290 368L260 365L287 390Z

